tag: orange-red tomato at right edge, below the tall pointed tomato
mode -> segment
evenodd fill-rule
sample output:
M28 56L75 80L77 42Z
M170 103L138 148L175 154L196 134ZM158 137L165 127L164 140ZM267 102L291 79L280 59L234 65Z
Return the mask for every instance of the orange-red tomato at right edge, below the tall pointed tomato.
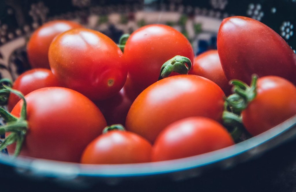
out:
M265 76L258 79L257 95L242 112L247 131L256 136L296 115L296 87L288 80Z

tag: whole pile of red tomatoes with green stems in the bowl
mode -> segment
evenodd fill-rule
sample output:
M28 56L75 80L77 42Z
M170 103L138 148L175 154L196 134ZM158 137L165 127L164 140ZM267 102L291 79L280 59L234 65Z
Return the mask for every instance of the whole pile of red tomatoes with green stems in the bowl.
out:
M0 149L85 164L163 161L231 146L296 114L295 53L259 21L224 19L218 50L195 58L166 25L123 38L63 20L36 30L33 69L12 88L1 80L10 95Z

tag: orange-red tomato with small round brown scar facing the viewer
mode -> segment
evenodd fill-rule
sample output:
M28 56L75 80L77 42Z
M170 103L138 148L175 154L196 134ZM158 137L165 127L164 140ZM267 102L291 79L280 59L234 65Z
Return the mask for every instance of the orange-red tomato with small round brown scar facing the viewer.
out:
M122 55L106 35L80 28L53 40L49 63L63 86L91 100L103 100L118 93L126 81L127 68Z

